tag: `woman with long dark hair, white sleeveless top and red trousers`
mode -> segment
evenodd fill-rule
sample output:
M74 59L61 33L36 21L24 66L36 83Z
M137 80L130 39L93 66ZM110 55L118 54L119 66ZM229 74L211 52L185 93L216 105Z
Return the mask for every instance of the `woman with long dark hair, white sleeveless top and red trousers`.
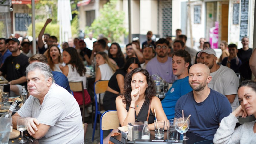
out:
M66 63L66 66L60 66L60 69L62 70L63 74L67 76L68 81L83 81L85 104L88 104L91 101L91 98L86 89L86 69L84 67L84 64L82 63L82 59L79 57L76 49L72 47L64 49L62 54L63 62ZM73 92L73 94L78 104L82 105L82 92Z

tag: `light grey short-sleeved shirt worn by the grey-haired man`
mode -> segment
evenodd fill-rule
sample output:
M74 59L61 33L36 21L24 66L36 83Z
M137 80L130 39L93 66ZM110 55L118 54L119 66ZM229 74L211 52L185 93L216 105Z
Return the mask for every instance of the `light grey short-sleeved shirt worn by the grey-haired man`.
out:
M82 117L75 98L63 87L52 84L42 105L39 99L29 96L18 114L34 117L40 124L50 125L40 143L84 143Z

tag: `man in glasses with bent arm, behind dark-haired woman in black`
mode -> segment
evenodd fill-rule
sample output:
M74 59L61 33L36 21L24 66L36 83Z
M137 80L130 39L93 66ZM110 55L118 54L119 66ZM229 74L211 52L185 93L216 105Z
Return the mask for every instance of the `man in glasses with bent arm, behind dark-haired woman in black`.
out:
M136 57L140 61L140 64L144 63L144 58L142 52L137 49L135 44L128 43L126 45L126 60L128 60L131 57Z

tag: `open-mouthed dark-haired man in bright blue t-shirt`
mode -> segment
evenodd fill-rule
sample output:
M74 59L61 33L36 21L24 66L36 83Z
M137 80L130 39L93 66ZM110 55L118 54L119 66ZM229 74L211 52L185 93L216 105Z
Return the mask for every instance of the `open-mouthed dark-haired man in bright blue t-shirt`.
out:
M191 64L191 56L186 50L178 50L172 58L173 74L177 76L165 98L161 101L167 119L174 118L174 109L177 100L192 91L188 82L188 70Z

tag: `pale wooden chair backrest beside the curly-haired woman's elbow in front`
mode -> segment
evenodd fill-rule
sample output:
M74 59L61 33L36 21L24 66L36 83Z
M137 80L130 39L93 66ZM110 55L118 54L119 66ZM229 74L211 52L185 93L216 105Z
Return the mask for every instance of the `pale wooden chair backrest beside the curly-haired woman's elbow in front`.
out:
M119 127L119 123L120 122L119 122L116 110L106 111L101 116L101 129L103 131L117 129Z

